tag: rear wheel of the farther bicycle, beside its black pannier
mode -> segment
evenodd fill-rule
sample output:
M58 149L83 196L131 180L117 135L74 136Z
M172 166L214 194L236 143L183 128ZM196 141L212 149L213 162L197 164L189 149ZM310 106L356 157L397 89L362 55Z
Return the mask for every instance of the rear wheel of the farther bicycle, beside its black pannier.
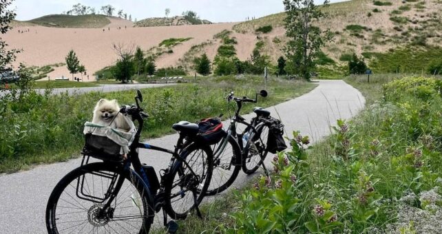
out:
M269 138L269 126L261 125L257 127L256 133L252 133L247 140L246 147L242 155L242 171L250 175L255 173L260 164L267 156L267 138Z

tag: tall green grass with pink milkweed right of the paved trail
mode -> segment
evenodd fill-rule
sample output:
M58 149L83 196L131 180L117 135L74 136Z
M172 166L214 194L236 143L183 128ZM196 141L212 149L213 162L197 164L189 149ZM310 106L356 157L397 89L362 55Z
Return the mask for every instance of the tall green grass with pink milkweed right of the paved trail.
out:
M345 81L365 95L366 110L353 120L340 120L333 134L312 149L298 150L304 143L293 140L298 147L273 160L280 173L204 204L204 220L191 215L180 222L180 233L438 230L440 78L386 74L370 84L364 76Z

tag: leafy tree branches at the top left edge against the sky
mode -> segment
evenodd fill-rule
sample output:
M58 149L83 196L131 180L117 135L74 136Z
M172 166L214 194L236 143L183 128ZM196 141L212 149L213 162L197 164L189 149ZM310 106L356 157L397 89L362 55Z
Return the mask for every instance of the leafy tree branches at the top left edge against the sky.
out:
M15 18L16 14L13 10L7 10L11 5L13 0L0 0L0 33L6 34L11 27L10 23ZM3 41L0 37L0 68L6 67L6 65L10 65L15 58L16 54L20 52L20 50L6 50L8 44Z

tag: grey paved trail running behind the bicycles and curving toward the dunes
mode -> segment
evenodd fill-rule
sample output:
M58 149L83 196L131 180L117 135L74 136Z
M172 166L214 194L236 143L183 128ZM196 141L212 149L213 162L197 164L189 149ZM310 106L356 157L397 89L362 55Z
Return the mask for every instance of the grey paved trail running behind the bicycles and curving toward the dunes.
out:
M270 94L271 95L271 94ZM272 116L280 114L286 131L301 131L313 142L330 133L329 126L338 118L351 118L364 107L365 98L344 81L319 81L318 87L299 98L270 107ZM253 115L244 116L250 119ZM172 148L177 134L149 140L152 145ZM81 146L78 146L78 150ZM157 171L167 167L169 156L154 151L140 151L142 162L153 165ZM266 158L271 164L272 156ZM78 167L80 159L36 167L30 171L0 176L0 233L45 233L45 206L55 184L67 172ZM260 173L262 171L258 171ZM252 176L240 172L233 187L240 187ZM208 198L215 199L216 196ZM160 220L156 218L156 224Z

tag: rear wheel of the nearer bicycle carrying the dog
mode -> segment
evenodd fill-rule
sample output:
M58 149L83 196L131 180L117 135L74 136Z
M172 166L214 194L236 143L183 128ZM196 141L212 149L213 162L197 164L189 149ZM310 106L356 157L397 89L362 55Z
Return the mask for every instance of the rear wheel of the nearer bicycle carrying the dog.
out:
M180 158L189 166L176 160L165 180L164 209L175 220L185 219L200 204L213 171L213 154L206 145L193 143L182 150Z

